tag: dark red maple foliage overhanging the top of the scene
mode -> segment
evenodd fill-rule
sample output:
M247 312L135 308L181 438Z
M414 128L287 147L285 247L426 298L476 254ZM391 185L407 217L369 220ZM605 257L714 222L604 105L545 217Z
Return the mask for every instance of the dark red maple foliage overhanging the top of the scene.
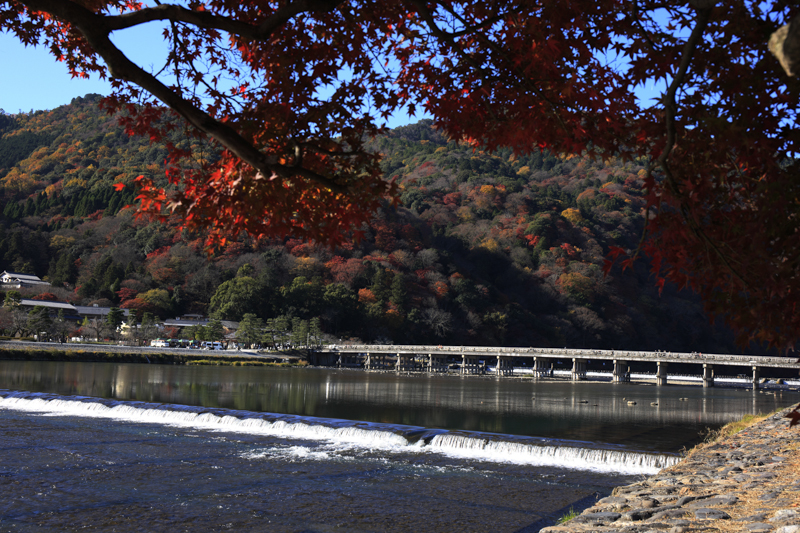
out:
M167 142L171 186L142 177L139 200L206 228L210 244L243 231L344 242L398 192L366 140L400 106L422 106L477 149L645 163L646 233L617 258L646 254L658 280L699 292L743 341L790 346L800 85L767 41L797 11L755 0L6 0L0 29L75 75L111 77L105 106L131 133L161 141L177 127L203 140ZM170 82L109 39L157 20L169 22ZM639 101L635 88L651 84L660 97ZM475 200L491 211L504 198Z

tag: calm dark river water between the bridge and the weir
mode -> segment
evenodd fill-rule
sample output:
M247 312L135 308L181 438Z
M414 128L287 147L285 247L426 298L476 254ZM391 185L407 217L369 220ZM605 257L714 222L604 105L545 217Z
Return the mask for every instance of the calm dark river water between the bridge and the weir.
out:
M597 441L666 452L691 446L703 428L799 399L797 393L683 386L39 361L0 362L0 388Z

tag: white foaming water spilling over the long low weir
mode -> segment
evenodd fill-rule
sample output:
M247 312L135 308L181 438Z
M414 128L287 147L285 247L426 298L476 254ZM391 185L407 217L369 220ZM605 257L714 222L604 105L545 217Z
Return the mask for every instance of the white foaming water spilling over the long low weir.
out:
M0 390L0 409L312 441L317 443L312 448L291 446L281 452L281 455L309 460L341 456L348 450L367 450L431 453L489 462L621 474L652 474L679 459L673 455L600 448L593 443L574 441L23 391ZM263 456L270 454L274 454L274 450ZM257 458L256 455L253 458Z

